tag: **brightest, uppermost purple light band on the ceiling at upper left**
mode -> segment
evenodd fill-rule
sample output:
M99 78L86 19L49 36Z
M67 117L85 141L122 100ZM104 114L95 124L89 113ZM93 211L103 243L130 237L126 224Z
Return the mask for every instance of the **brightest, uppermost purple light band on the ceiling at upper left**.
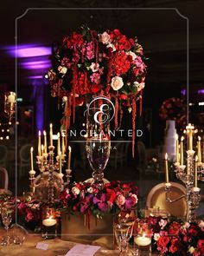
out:
M12 56L20 58L35 57L35 56L48 56L51 55L51 48L46 46L32 46L29 44L18 45L15 47L8 48Z

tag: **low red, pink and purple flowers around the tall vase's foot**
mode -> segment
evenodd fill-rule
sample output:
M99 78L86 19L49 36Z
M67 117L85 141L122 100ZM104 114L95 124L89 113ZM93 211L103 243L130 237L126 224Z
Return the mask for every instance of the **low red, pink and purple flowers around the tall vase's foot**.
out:
M61 204L69 213L92 213L101 218L105 213L131 212L137 205L137 195L134 183L112 181L99 189L89 182L80 182L70 184L61 193Z

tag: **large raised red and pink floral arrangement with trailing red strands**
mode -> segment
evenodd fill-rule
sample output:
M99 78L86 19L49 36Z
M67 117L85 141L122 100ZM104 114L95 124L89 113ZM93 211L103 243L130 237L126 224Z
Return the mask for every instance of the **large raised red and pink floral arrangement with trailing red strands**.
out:
M143 48L137 38L127 38L119 30L98 34L83 27L73 32L53 50L52 69L48 71L51 95L65 103L62 124L70 126L75 106L86 101L86 95L105 95L115 99L115 128L124 107L132 112L133 148L137 100L142 111L142 93L146 75Z

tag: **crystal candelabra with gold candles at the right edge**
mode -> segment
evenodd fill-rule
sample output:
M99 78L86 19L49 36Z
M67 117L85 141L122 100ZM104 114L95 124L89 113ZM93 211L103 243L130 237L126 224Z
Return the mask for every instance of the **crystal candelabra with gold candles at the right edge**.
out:
M185 155L183 150L183 141L184 136L181 138L181 143L179 145L179 138L177 136L175 142L175 174L177 179L181 180L186 187L186 193L182 194L178 198L171 199L171 184L169 182L169 172L168 172L168 160L166 161L166 200L170 203L173 203L177 200L184 198L187 202L187 214L186 220L192 222L196 219L195 210L199 206L201 195L201 188L198 187L198 180L203 181L203 172L204 172L204 163L201 159L201 137L198 136L197 149L194 150L193 142L194 135L197 133L197 130L194 129L194 125L191 123L188 124L186 130L184 130L184 135L187 135L188 138L188 150L186 151L187 157L184 162ZM196 155L194 155L196 152Z

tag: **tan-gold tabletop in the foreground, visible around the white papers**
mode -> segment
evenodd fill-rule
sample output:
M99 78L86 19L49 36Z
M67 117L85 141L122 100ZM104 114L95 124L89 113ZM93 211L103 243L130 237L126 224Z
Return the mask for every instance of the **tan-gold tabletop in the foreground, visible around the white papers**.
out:
M0 237L2 237L4 234L3 230L0 230ZM48 250L44 251L41 249L37 249L36 245L38 242L46 243L48 244ZM41 238L41 235L39 234L28 234L26 237L26 240L24 240L23 244L21 246L17 245L10 245L10 246L0 246L0 255L3 256L13 256L13 255L19 255L19 256L39 256L45 255L45 256L65 256L66 253L74 246L76 243L61 240L59 238L55 238L54 240L43 240ZM114 256L119 255L118 251L116 250L107 250L103 247L97 251L94 256ZM128 253L127 256L131 253ZM155 254L152 254L155 255ZM143 255L145 256L145 255Z

